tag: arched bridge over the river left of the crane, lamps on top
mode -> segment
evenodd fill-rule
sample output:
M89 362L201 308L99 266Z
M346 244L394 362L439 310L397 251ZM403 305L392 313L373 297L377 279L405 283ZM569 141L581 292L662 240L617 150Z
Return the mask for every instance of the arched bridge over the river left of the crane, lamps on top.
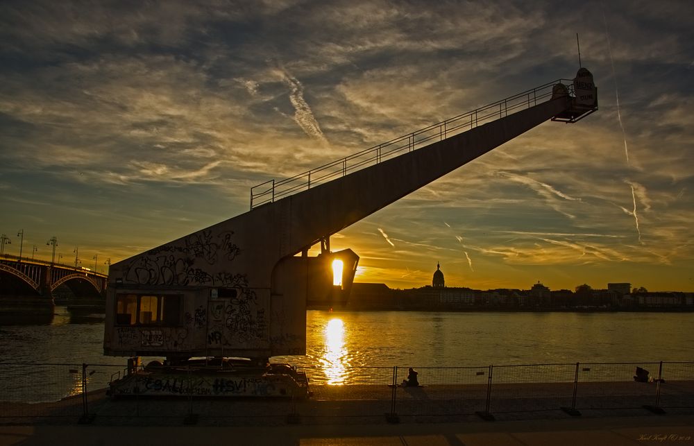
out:
M14 255L0 257L0 310L103 307L108 275Z

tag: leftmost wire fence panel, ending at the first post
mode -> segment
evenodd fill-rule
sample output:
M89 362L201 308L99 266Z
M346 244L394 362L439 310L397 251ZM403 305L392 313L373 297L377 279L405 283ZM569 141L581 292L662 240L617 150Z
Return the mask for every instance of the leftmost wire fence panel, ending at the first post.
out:
M83 414L81 364L0 363L0 422Z

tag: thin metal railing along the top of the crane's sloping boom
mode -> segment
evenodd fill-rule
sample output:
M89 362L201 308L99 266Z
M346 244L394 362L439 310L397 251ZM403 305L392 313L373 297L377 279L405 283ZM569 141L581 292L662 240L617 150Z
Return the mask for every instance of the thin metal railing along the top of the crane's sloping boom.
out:
M251 210L266 203L295 194L298 191L311 189L312 186L343 177L348 173L364 169L384 160L423 148L436 141L442 141L466 130L472 130L482 124L507 117L525 108L531 108L552 96L552 88L558 83L566 85L569 94L573 96L573 80L559 79L539 87L514 94L471 112L459 114L431 126L416 130L396 139L366 148L340 160L323 164L310 171L294 175L284 180L268 180L260 185L251 187Z

